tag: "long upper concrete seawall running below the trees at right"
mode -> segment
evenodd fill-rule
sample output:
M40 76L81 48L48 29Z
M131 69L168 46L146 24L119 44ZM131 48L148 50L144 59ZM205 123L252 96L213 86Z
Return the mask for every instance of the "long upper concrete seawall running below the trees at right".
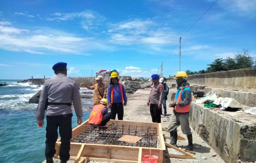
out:
M173 78L168 83L175 83ZM189 75L190 84L256 88L256 68Z

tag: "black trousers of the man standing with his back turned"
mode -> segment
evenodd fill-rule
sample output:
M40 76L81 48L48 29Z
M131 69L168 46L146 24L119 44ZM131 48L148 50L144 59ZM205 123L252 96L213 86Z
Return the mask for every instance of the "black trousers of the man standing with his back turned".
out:
M72 116L64 114L56 116L46 116L46 141L45 157L52 158L55 154L55 143L58 139L58 128L61 136L60 159L67 161L70 158L70 140L72 138Z

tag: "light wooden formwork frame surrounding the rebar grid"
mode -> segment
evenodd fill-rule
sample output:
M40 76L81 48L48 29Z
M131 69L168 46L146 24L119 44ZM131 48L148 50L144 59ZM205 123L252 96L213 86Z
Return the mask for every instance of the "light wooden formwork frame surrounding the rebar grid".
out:
M86 160L106 161L114 163L141 163L142 157L149 154L151 151L151 155L156 155L158 157L158 163L163 162L163 151L166 149L166 147L160 123L110 120L108 124L156 127L158 136L158 148L71 142L70 160L75 160L75 163L82 163ZM72 131L72 139L86 130L89 126L90 124L87 120L74 128ZM55 145L55 158L58 158L59 156L60 145L61 140L58 139Z

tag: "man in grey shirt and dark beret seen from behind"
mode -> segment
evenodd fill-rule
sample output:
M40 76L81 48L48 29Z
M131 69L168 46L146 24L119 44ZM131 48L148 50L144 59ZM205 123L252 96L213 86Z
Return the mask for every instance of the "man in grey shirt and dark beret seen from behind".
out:
M53 163L52 157L55 154L58 128L61 136L59 155L61 163L66 163L70 158L70 140L72 138L71 119L73 112L71 103L73 102L78 124L82 122L83 111L79 86L75 80L67 77L67 63L56 63L52 69L57 76L45 80L35 117L38 120L38 127L43 127L44 112L46 110L45 157L47 163Z

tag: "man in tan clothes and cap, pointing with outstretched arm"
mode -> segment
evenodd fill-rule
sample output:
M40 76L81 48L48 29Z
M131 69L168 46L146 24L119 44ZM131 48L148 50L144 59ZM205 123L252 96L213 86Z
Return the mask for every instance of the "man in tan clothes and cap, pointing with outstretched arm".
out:
M103 77L98 76L95 78L96 84L93 86L88 86L85 83L81 83L80 86L85 86L87 89L94 90L93 103L94 105L100 104L102 98L106 98L107 95L107 86L103 83Z

